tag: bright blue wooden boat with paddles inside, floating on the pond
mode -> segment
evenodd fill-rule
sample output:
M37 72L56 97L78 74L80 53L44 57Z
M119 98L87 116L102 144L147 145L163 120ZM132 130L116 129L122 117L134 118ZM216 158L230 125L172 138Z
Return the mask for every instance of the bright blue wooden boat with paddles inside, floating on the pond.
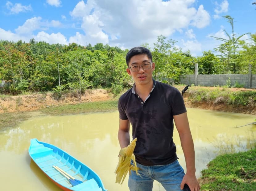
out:
M62 190L107 191L100 177L76 158L36 138L30 142L28 152L31 159Z

